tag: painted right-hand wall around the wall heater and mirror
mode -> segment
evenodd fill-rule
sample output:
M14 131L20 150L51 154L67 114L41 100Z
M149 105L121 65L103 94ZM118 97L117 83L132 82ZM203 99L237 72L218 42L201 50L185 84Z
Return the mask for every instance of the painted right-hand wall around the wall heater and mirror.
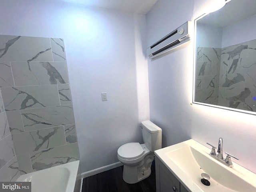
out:
M196 2L196 0L195 0ZM193 0L158 0L146 15L148 46L203 10ZM193 15L194 12L194 15ZM202 13L201 13L202 14ZM159 19L161 18L161 22ZM163 146L193 138L206 145L224 140L224 152L239 157L238 164L256 173L255 116L192 102L193 45L148 60L150 120L163 130ZM209 149L210 152L210 149Z

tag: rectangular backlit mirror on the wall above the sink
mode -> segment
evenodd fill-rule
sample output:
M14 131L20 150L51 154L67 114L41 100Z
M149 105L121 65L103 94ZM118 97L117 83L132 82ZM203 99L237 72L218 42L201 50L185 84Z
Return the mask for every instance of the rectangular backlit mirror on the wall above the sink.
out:
M256 114L256 2L195 20L193 102Z

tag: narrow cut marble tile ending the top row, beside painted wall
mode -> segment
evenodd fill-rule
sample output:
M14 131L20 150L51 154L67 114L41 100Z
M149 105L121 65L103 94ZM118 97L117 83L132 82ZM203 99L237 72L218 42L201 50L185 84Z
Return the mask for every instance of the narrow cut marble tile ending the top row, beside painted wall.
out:
M51 38L52 56L54 61L66 61L64 41L60 38Z

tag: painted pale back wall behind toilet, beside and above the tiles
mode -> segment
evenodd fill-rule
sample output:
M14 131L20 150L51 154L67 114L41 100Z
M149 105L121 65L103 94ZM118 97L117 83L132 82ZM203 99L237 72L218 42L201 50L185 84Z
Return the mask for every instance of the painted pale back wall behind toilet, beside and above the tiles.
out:
M64 38L82 172L118 162L119 146L142 142L140 121L149 119L145 16L2 0L0 17L0 34Z

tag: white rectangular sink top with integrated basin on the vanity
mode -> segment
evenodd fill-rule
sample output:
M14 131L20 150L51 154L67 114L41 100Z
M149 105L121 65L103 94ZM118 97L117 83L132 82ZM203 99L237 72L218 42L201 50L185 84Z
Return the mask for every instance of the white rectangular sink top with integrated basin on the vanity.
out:
M156 156L191 192L256 192L256 174L233 162L230 168L210 155L210 149L190 139L156 150ZM201 182L201 174L210 186Z

